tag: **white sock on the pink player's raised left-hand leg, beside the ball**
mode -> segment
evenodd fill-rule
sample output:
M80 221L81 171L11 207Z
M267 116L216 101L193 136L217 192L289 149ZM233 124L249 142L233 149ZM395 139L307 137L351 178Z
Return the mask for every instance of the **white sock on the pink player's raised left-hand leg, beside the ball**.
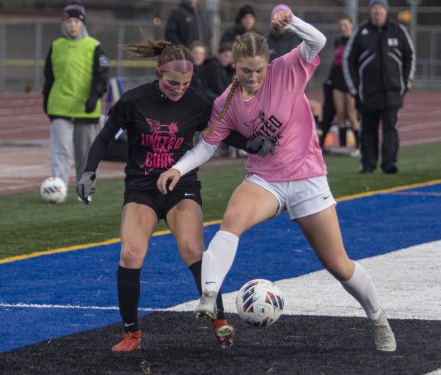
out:
M218 231L215 234L202 256L202 290L219 292L233 264L238 243L239 237L233 233Z

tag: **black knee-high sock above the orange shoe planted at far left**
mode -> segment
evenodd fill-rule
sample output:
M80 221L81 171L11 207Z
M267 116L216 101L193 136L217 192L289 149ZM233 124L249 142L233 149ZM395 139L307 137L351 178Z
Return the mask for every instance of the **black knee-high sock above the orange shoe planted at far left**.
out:
M138 328L138 303L141 268L118 266L118 302L125 332L135 332Z

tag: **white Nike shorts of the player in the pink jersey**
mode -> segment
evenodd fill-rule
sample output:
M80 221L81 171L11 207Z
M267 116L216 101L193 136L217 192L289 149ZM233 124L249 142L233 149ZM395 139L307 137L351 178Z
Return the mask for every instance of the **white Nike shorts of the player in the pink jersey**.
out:
M270 183L257 175L248 175L244 181L262 186L277 198L279 210L275 216L288 211L289 219L295 220L336 205L326 175L282 183Z

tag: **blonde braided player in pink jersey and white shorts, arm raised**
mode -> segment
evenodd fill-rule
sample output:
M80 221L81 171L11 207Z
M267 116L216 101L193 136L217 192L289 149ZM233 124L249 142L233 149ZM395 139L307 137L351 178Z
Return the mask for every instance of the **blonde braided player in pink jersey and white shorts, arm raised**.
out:
M329 190L314 118L304 94L326 38L283 6L275 12L272 23L292 28L302 43L268 64L265 38L256 33L237 37L233 45L236 78L216 99L211 125L196 147L157 180L164 194L169 180L169 190L173 190L181 176L207 161L233 130L250 138L265 135L275 144L265 157L248 156L245 180L230 197L221 228L203 254L204 292L195 315L216 317L216 295L233 264L240 234L287 211L324 268L365 310L376 349L394 351L395 337L376 288L368 273L349 259L344 249L336 202Z

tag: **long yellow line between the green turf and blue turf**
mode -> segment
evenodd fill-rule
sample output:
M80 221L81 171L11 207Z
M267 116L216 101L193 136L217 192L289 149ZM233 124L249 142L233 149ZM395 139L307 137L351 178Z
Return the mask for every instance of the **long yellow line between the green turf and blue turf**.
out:
M415 184L410 184L410 185L403 185L403 186L398 186L398 187L389 188L389 189L373 190L371 192L361 192L359 194L347 195L346 197L336 198L336 201L343 202L346 200L354 200L356 198L361 198L361 197L369 197L371 195L376 195L376 194L386 194L388 192L395 192L398 190L405 190L405 189L411 189L411 188L421 188L423 186L436 185L438 183L441 183L441 180L428 181L427 183L415 183ZM208 227L208 225L220 224L221 222L222 222L222 220L212 220L210 222L204 222L203 226ZM164 234L170 234L170 233L171 232L169 230L162 230L162 231L154 232L153 236L163 236ZM36 251L35 253L31 253L31 254L10 256L9 258L0 259L0 264L1 263L11 263L13 261L22 261L24 259L36 258L37 256L65 253L68 251L75 251L75 250L80 250L80 249L87 249L88 247L116 244L119 241L121 241L121 239L119 239L119 238L107 239L107 241L95 242L95 243L91 243L91 244L60 247L59 249L53 249L53 250L47 250L47 251Z

